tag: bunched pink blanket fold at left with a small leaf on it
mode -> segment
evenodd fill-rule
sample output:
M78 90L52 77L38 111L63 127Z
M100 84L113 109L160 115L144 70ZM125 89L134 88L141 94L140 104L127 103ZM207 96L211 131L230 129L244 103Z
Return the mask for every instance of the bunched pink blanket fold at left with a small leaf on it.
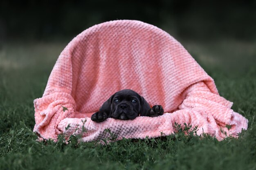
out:
M53 93L34 100L36 125L34 131L46 139L57 139L56 128L66 117L73 117L76 103L68 93ZM53 121L54 120L54 121Z

